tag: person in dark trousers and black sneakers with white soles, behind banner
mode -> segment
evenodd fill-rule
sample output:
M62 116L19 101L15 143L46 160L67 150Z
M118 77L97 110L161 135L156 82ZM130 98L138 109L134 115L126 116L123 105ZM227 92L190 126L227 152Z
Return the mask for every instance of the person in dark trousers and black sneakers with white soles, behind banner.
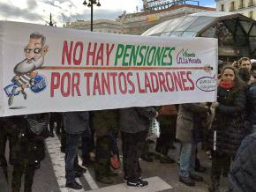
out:
M154 107L129 107L119 109L119 126L122 137L124 181L128 188L143 188L139 157L145 145L149 118L158 116Z

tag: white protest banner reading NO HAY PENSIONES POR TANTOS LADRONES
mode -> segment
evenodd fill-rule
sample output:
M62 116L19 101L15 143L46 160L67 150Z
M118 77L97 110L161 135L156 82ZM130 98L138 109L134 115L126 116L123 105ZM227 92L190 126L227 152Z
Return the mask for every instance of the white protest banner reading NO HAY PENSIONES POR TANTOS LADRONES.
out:
M217 40L0 21L0 69L1 116L215 101Z

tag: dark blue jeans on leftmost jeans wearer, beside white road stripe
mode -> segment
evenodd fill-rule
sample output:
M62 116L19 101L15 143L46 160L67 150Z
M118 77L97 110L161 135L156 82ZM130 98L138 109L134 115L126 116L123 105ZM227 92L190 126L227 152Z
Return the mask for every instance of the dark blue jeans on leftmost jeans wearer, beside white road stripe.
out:
M78 155L81 134L66 134L65 177L67 183L75 181L74 159Z

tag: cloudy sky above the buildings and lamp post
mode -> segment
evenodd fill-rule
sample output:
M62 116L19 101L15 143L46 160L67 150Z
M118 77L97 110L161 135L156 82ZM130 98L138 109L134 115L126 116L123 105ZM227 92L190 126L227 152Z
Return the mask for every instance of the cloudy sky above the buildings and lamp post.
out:
M89 20L90 9L84 0L0 0L0 20L12 20L45 25L52 13L56 26L77 19ZM88 0L87 0L88 2ZM142 9L142 0L100 0L102 6L94 6L94 19L115 19ZM200 0L200 5L215 7L215 0Z

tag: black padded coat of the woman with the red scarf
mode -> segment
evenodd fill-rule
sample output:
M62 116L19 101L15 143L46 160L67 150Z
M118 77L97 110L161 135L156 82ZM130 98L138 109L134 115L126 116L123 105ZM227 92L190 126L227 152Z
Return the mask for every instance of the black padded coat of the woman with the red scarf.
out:
M236 155L241 141L249 134L245 128L245 89L234 87L230 90L218 87L215 119L209 134L213 146L214 130L217 133L217 151Z

